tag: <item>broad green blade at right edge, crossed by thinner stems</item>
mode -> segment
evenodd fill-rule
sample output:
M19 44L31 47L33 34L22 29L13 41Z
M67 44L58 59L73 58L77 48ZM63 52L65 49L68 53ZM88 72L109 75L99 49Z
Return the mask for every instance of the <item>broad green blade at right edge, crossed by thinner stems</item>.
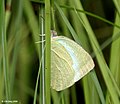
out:
M115 23L119 25L120 23L120 17L118 15L118 13L116 13L116 20ZM116 27L114 28L114 32L113 32L113 38L116 36L116 33L120 34L119 29L117 29ZM117 40L112 42L112 46L111 46L111 54L110 54L110 69L111 69L111 73L113 74L115 81L118 85L118 87L120 88L120 81L119 81L119 74L120 74L120 56L119 56L119 51L120 51L120 39L118 38ZM120 93L120 92L119 92ZM120 95L120 94L119 94ZM110 94L109 92L107 92L107 100L106 103L108 104L110 101Z

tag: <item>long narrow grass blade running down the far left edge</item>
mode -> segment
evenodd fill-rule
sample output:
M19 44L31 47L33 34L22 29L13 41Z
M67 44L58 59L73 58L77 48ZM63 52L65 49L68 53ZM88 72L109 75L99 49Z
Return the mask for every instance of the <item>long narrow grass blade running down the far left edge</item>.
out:
M5 78L5 93L6 100L11 98L10 86L9 86L9 72L8 72L8 55L7 55L7 41L6 41L6 29L5 29L5 3L0 1L0 34L2 35L2 53L3 53L3 70Z

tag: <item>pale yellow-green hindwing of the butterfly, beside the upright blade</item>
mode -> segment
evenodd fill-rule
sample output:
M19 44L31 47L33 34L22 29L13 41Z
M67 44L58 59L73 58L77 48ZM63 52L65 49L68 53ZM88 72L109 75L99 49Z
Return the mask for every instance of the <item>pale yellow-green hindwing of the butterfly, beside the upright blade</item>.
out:
M51 87L57 91L74 84L72 59L63 45L57 41L51 43Z

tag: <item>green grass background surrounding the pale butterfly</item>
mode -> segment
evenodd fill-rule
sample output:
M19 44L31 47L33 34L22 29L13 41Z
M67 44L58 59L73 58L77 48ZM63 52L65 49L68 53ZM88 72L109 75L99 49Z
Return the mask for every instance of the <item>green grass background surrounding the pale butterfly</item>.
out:
M118 0L1 0L0 102L120 104L119 7ZM76 41L95 62L61 92L50 89L50 29ZM44 42L35 43L44 41L43 33L45 51Z

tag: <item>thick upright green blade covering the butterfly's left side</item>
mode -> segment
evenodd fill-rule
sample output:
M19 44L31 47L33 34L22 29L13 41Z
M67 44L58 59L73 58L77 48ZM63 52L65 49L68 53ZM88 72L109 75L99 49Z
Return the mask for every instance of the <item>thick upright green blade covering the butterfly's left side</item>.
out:
M50 35L50 0L45 0L45 104L51 104L50 79L51 79L51 35Z

